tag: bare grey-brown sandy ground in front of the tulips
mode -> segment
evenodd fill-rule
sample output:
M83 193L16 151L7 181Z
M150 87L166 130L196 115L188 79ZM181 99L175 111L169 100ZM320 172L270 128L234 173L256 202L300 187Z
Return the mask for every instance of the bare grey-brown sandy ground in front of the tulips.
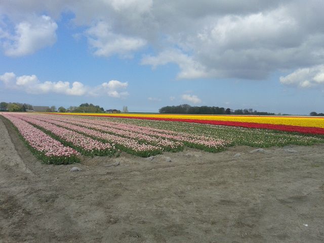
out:
M4 122L0 242L324 242L324 144L123 153L69 172Z

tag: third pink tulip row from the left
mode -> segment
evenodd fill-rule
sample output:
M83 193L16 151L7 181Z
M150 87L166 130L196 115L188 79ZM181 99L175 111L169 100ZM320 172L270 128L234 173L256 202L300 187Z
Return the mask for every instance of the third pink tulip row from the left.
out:
M30 118L30 116L32 116L33 118ZM139 143L135 139L124 138L124 137L120 137L120 136L116 136L116 135L112 135L112 134L108 134L108 133L103 133L103 132L96 131L93 129L88 129L85 127L69 124L64 121L57 121L57 120L53 120L53 119L50 120L45 116L26 115L25 118L30 120L32 123L35 123L36 125L42 124L42 126L45 126L47 124L48 127L61 126L64 128L61 128L61 127L58 127L58 128L67 130L70 133L78 132L78 133L87 134L88 136L91 136L95 139L108 141L108 142L112 143L113 146L116 145L116 147L118 147L120 149L123 149L129 153L137 154L139 156L149 156L152 154L160 153L161 151L164 150L164 148L161 146ZM76 132L73 132L71 130L76 131ZM81 134L79 134L79 135L83 136Z

